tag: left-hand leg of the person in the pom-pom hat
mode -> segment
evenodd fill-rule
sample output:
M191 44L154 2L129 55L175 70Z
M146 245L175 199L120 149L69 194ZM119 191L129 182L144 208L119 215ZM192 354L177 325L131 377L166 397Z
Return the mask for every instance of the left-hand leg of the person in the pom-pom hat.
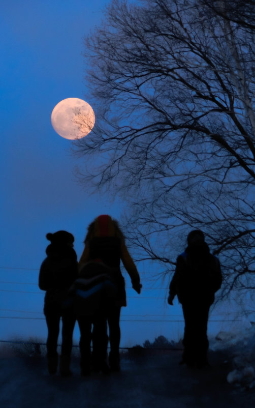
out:
M46 342L48 371L55 374L57 370L57 339L59 334L60 313L47 310L45 312L46 323L48 327L48 337Z

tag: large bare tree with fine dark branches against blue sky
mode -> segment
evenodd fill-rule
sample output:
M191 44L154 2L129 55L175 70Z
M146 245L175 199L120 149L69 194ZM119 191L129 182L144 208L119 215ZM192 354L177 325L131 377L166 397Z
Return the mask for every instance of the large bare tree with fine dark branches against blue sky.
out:
M201 228L224 296L255 287L254 12L237 3L113 1L86 45L98 118L79 144L103 163L86 182L126 200L138 258L172 271Z

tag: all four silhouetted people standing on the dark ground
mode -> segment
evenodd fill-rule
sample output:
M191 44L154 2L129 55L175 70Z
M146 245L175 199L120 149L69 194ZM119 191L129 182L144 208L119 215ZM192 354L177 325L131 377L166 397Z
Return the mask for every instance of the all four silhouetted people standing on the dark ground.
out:
M60 318L61 376L72 375L70 360L76 320L80 329L81 374L89 375L91 370L103 373L119 371L119 318L121 306L126 306L120 261L138 294L142 285L117 221L109 215L100 215L91 222L79 262L73 249L74 237L70 232L61 230L47 234L46 238L50 245L46 248L47 257L41 265L39 287L46 290L44 314L48 328L49 373L55 374L58 367ZM208 364L208 313L222 277L219 261L210 253L203 232L190 232L187 241L187 248L177 258L168 303L173 305L177 295L183 309L185 329L181 363L204 367Z

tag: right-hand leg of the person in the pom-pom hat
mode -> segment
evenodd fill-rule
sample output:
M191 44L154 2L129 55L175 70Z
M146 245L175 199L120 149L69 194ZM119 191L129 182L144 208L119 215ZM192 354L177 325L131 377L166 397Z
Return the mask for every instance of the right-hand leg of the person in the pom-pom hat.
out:
M59 365L60 374L62 376L72 375L70 370L70 361L75 321L75 316L72 313L64 313L62 315L62 346Z

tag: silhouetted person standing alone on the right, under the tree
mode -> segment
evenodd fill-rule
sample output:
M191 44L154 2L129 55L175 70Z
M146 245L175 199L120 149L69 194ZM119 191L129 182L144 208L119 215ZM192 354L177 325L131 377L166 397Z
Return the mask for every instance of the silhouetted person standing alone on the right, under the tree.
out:
M208 314L222 276L219 260L210 254L201 230L191 231L187 243L187 248L177 258L168 303L173 305L177 295L182 305L185 320L182 362L201 368L208 364Z

